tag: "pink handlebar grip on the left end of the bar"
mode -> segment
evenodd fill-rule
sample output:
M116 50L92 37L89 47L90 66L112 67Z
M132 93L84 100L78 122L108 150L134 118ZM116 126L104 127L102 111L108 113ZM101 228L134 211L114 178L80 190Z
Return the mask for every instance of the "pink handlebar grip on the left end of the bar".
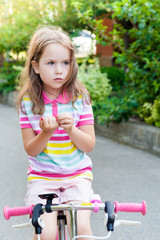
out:
M22 215L32 215L33 205L29 207L17 207L10 208L5 206L3 209L4 218L6 220L10 219L12 216L22 216Z

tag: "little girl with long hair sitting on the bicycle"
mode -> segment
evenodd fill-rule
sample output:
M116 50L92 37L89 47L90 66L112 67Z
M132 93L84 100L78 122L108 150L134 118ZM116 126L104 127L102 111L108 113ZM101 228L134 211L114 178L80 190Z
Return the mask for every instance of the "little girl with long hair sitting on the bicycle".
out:
M95 145L93 113L77 71L68 34L57 27L39 28L30 41L18 97L23 144L30 163L27 205L44 204L38 197L44 193L59 196L53 203L89 202L93 193L92 162L86 155ZM45 228L41 239L56 239L56 212L42 218ZM89 211L78 212L79 234L92 235Z

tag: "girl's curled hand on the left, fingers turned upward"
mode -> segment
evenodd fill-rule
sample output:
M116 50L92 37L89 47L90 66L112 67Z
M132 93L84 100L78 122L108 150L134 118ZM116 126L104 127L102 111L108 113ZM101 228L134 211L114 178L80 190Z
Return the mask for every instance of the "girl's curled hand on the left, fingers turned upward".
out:
M50 116L42 117L39 126L44 132L52 133L59 127L59 124L55 117Z

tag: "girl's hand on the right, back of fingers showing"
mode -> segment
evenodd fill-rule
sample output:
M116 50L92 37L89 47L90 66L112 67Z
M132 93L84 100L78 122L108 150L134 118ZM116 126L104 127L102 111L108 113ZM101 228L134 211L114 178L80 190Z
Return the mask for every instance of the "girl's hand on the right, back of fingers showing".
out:
M59 126L64 129L65 132L71 132L73 128L73 117L70 113L61 113L56 117Z

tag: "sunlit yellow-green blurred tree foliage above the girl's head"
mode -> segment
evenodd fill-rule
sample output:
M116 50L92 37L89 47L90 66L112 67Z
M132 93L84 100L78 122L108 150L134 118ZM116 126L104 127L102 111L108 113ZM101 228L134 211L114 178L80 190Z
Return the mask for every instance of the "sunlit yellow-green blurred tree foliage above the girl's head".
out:
M0 53L25 51L39 25L58 25L67 32L83 25L71 0L7 0L0 11Z

